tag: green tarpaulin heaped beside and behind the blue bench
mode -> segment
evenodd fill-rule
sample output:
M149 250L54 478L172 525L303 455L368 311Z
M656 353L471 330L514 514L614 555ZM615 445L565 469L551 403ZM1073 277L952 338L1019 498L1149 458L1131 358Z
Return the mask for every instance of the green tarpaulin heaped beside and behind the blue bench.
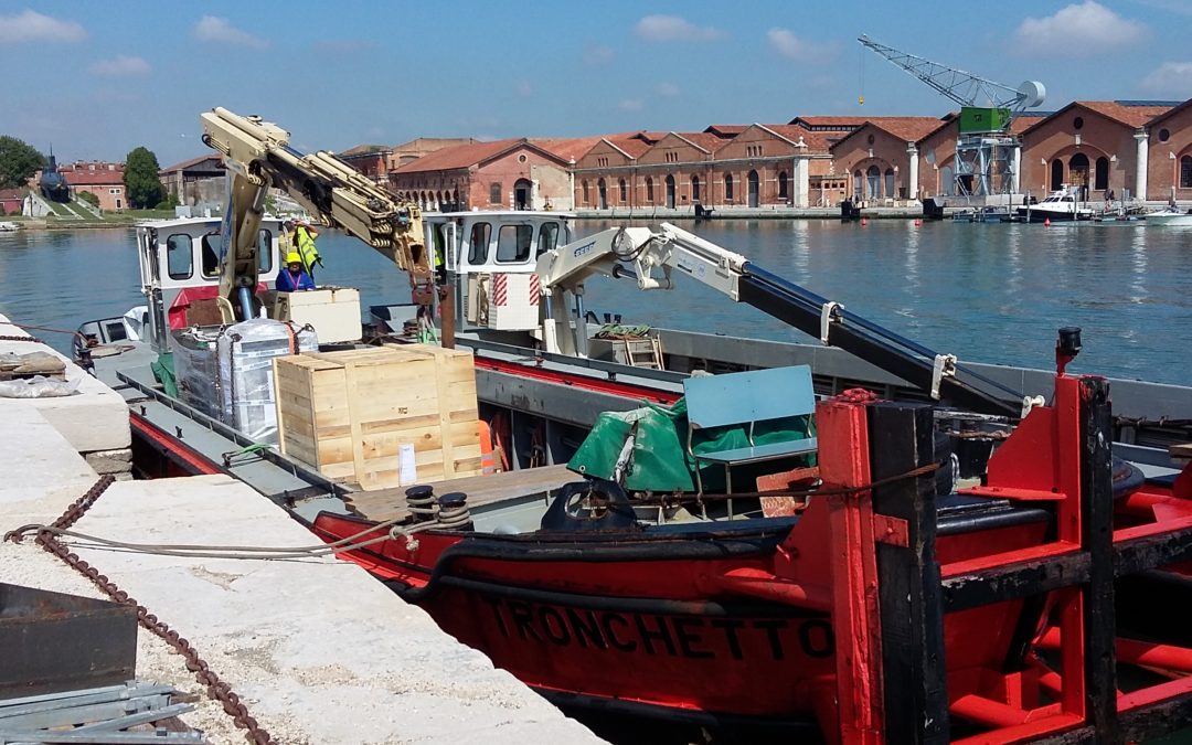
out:
M567 462L577 473L611 479L617 458L629 435L635 436L631 468L625 478L627 491L695 491L695 461L687 453L687 401L671 406L646 404L632 411L606 411L596 420L588 439ZM753 445L789 442L814 436L811 417L796 416L758 422L753 427ZM749 424L700 429L691 439L696 453L749 447ZM719 464L701 464L706 491L725 488L725 468ZM734 484L738 480L733 471ZM744 474L743 474L744 476Z

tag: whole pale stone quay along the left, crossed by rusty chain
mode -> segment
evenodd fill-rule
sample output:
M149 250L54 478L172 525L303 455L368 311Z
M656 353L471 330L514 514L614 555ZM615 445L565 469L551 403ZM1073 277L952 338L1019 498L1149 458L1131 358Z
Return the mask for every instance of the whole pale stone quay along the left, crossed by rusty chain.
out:
M0 334L17 334L11 325ZM45 349L0 342L0 350ZM77 368L72 375L85 374ZM103 449L88 406L124 402L98 381L67 399L0 399L0 532L49 523L91 488L79 443ZM94 418L92 418L94 417ZM62 424L66 422L66 424ZM70 422L81 427L72 428ZM62 424L62 427L60 427ZM107 424L103 429L108 428ZM101 429L101 428L97 428ZM88 440L88 436L93 439ZM75 530L138 544L311 546L309 532L225 476L113 484ZM237 560L72 550L198 650L274 743L595 743L578 722L443 633L354 564L334 558ZM33 540L0 544L0 582L103 597ZM184 658L141 629L137 677L203 694ZM184 715L212 743L242 743L218 702Z

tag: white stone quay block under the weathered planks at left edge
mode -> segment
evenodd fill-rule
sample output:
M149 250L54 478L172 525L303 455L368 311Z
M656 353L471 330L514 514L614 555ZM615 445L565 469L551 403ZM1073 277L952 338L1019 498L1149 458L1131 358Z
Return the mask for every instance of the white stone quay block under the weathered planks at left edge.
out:
M0 315L0 336L29 336L23 329ZM75 451L110 451L129 447L132 434L129 429L129 408L124 398L64 355L50 347L20 341L0 341L0 353L49 352L67 362L67 380L79 381L79 392L60 398L19 399L38 409L50 424L67 439ZM18 399L0 398L0 418L6 416L11 404Z

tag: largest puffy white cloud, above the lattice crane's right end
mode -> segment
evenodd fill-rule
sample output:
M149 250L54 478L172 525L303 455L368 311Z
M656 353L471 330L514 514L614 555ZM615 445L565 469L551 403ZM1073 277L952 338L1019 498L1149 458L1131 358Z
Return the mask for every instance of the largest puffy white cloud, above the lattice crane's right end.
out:
M1055 15L1028 18L1014 31L1016 50L1026 56L1091 57L1137 44L1147 26L1122 18L1094 0L1069 5Z

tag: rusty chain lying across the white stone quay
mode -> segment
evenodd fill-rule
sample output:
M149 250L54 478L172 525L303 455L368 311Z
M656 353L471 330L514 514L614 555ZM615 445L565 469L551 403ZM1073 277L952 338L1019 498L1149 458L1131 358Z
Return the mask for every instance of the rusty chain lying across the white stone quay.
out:
M79 521L80 517L87 511L87 509L95 503L95 501L107 490L108 486L116 478L111 474L103 476L95 484L88 489L81 497L75 499L70 507L62 513L62 516L54 521L54 527L60 529L68 529ZM13 542L20 542L20 535L18 533L10 533L6 538ZM178 650L182 657L186 658L186 669L194 673L194 679L201 683L207 689L207 696L215 699L223 704L224 713L232 718L236 726L246 730L244 739L253 745L271 745L273 739L266 730L262 730L252 714L248 712L248 707L240 700L240 696L231 689L228 683L219 679L219 676L212 670L207 663L199 657L198 651L194 646L185 638L179 635L179 633L172 629L164 621L157 619L156 615L149 613L149 609L139 604L135 598L130 597L128 592L119 589L114 582L99 573L94 566L88 564L86 560L80 559L79 554L73 553L66 544L55 538L51 533L42 530L37 535L37 544L55 554L74 569L79 570L87 579L92 582L97 588L107 594L117 603L124 606L134 606L137 609L137 620L141 622L145 629L153 632L161 639L163 639L169 646Z

